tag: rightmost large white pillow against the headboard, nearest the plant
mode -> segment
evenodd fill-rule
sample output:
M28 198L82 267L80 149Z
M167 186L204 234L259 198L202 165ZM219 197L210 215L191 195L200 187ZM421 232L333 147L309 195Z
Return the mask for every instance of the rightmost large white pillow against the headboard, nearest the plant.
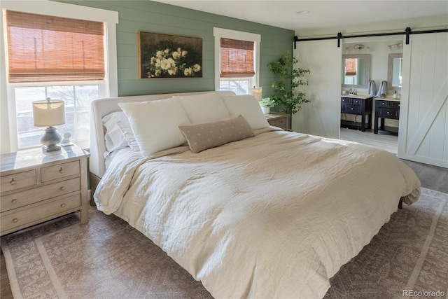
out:
M224 95L223 100L230 116L232 118L239 115L243 116L251 125L252 130L269 127L260 104L258 104L258 100L253 95Z

